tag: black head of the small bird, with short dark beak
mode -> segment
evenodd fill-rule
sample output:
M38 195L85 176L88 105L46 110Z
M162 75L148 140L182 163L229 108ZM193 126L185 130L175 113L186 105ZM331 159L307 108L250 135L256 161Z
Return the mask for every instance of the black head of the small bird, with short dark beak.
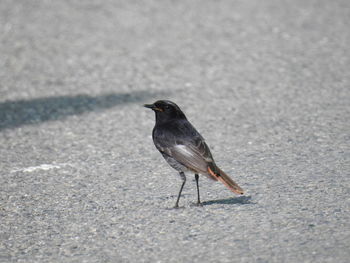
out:
M170 100L158 100L153 104L145 104L144 107L152 109L156 113L156 122L186 119L179 106Z

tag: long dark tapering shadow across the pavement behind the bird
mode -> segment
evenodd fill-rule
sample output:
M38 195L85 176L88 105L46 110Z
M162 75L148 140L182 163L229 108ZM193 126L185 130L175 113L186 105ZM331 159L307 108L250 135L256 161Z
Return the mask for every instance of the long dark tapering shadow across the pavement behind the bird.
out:
M154 96L154 93L144 90L97 96L78 94L4 101L0 102L0 130L60 120L71 115L104 110L127 103L137 103Z

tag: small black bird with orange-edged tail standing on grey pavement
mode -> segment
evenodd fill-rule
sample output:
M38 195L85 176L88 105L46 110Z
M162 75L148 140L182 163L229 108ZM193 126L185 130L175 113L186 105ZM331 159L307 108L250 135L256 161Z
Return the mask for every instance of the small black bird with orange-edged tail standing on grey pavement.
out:
M202 205L199 174L222 182L235 194L244 194L243 189L216 165L204 138L187 120L179 106L169 100L158 100L153 104L145 104L144 107L155 112L155 126L152 131L155 147L168 164L179 172L182 179L175 208L179 207L180 196L186 183L185 173L188 172L195 175L198 206Z

